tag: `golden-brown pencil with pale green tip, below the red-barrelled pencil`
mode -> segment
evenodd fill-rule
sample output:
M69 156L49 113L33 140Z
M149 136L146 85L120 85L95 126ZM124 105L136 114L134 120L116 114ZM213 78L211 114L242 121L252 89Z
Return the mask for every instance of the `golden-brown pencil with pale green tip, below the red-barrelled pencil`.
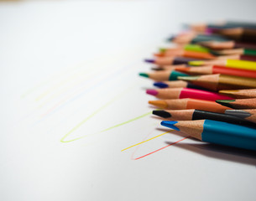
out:
M178 80L190 81L210 90L240 90L256 88L256 79L232 75L197 75L178 77Z

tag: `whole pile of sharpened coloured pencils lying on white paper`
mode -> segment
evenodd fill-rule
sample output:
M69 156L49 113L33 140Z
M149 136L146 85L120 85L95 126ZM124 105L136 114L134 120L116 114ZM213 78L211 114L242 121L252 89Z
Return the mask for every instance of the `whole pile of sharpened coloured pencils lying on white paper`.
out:
M147 94L162 126L204 142L256 151L256 23L188 25L159 49Z

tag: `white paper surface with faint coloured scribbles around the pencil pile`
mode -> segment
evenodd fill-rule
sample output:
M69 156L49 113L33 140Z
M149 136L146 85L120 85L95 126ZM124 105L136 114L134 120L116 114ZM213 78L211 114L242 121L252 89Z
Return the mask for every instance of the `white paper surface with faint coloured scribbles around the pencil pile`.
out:
M144 92L152 81L138 72L171 33L185 23L255 21L255 8L1 2L0 200L255 200L255 152L191 139L166 147L183 137L156 137L169 130L150 115L130 121L153 110Z

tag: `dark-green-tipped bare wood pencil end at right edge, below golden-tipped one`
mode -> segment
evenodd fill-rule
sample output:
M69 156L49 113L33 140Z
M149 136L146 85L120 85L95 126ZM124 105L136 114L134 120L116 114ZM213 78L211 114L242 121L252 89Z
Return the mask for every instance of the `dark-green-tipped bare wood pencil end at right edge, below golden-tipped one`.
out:
M217 100L216 102L232 109L256 109L256 98Z

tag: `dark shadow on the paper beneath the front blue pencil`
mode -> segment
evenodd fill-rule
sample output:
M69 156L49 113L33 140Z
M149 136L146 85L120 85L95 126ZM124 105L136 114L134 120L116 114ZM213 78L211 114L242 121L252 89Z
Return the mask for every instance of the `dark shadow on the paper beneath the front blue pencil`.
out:
M171 144L173 142L166 142ZM205 157L212 157L229 162L237 162L256 166L256 152L236 147L226 147L216 144L177 143L173 146L196 152Z

